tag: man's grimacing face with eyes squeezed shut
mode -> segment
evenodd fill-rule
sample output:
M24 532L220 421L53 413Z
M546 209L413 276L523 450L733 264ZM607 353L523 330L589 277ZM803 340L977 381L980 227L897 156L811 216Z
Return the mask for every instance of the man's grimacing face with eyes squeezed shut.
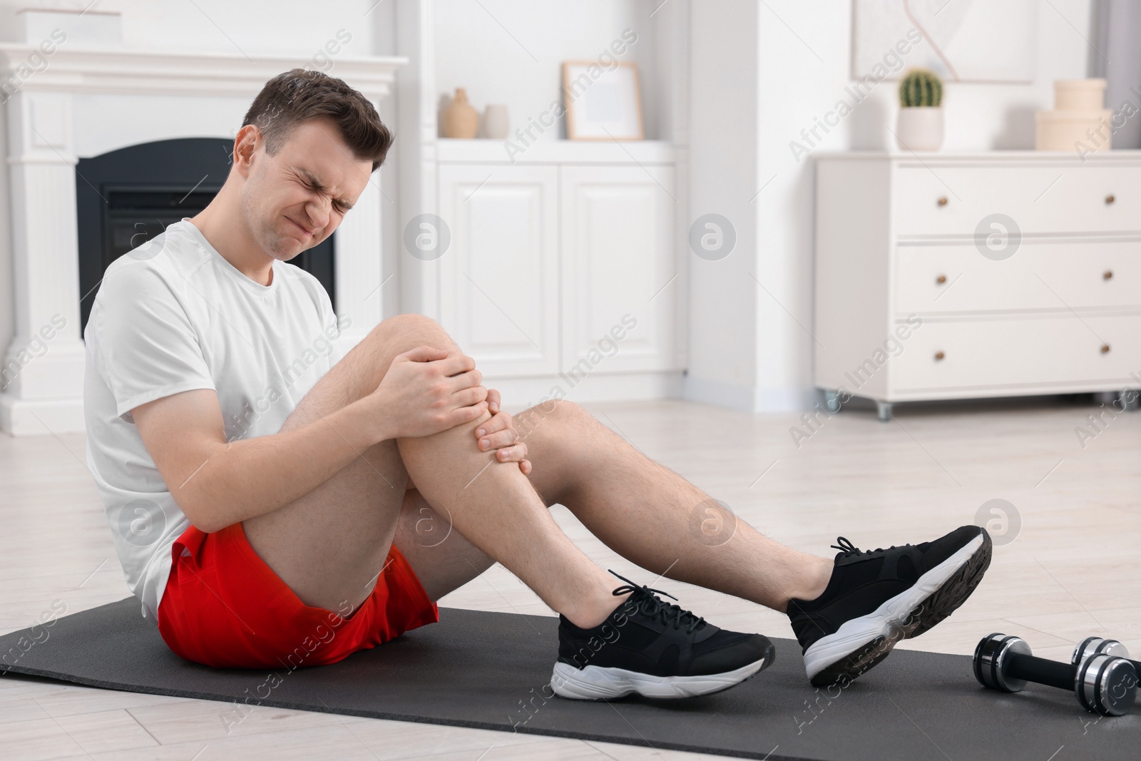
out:
M371 173L372 162L353 157L334 122L302 122L276 155L259 139L242 186L242 212L261 249L289 261L333 234Z

